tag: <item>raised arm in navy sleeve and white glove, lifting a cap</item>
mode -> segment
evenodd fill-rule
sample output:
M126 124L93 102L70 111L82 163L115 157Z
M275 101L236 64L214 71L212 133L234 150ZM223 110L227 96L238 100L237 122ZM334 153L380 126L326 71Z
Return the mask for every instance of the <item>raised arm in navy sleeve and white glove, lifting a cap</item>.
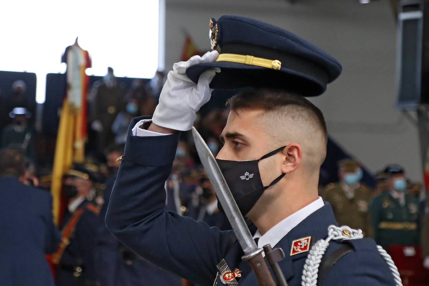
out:
M164 184L180 135L176 130L191 128L195 112L210 98L208 83L215 75L214 71L203 73L199 83L194 84L184 73L186 67L216 57L217 53L211 52L202 58L191 58L190 63L175 64L161 93L150 134L139 136L135 132L145 128L136 124L149 117L133 119L106 214L107 227L123 244L199 285L213 284L216 265L233 232L221 232L206 223L165 211Z

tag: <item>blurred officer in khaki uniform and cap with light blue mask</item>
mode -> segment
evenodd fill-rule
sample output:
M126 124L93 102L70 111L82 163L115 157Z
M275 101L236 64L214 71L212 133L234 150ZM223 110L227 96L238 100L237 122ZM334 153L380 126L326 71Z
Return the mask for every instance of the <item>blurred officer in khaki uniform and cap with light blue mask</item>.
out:
M363 184L362 169L358 162L344 159L338 162L340 181L328 184L323 190L323 200L329 202L339 226L362 229L363 235L372 236L368 206L372 192Z

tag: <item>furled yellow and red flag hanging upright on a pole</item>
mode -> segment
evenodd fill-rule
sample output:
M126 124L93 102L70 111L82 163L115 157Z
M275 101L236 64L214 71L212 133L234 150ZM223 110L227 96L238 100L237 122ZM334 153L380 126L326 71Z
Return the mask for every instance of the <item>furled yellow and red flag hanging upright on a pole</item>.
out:
M85 69L91 67L88 51L79 47L77 38L73 45L66 48L61 60L67 64L66 93L58 126L51 186L52 212L57 225L60 222L63 174L72 163L83 163L85 160L85 140L88 134L86 93L89 83Z

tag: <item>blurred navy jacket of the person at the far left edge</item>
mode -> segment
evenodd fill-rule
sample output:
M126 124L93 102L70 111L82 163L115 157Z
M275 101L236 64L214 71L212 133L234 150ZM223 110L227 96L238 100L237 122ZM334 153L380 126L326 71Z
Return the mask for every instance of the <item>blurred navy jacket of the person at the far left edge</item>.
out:
M54 285L45 253L57 250L61 234L51 194L3 177L0 196L0 285Z

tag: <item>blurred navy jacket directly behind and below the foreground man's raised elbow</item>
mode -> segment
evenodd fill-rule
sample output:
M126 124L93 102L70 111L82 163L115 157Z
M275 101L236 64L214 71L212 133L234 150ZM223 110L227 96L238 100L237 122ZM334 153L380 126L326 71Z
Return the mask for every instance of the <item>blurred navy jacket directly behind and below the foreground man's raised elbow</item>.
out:
M104 205L100 210L103 222L98 228L95 250L98 281L102 286L181 286L180 277L137 256L106 228L104 217L115 179L114 175L106 181Z

